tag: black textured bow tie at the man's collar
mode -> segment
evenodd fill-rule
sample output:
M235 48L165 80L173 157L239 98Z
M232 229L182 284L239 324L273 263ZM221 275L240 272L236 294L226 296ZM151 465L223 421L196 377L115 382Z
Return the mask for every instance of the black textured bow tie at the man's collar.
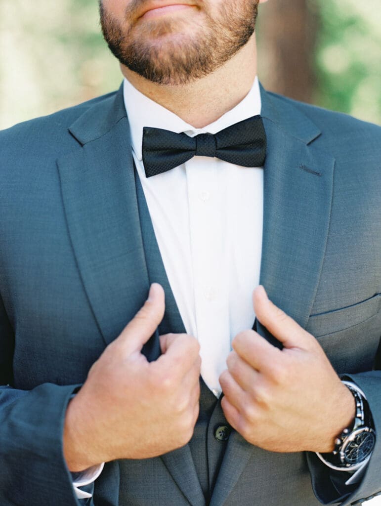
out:
M196 155L220 158L244 167L262 167L266 157L266 133L260 115L215 135L195 137L145 126L142 152L147 178L170 171Z

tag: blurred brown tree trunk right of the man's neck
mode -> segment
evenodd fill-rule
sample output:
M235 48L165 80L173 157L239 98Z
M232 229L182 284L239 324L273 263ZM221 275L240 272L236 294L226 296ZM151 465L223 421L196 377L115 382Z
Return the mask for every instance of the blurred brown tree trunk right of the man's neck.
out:
M269 0L258 18L259 77L270 91L304 102L316 87L317 15L308 0Z

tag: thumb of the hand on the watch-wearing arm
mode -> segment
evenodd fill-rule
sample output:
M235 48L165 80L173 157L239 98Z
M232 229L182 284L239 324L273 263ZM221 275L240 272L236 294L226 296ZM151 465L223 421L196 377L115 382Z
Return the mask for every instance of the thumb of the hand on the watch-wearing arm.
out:
M252 301L258 320L285 348L308 349L315 342L313 335L269 300L262 285L253 291Z

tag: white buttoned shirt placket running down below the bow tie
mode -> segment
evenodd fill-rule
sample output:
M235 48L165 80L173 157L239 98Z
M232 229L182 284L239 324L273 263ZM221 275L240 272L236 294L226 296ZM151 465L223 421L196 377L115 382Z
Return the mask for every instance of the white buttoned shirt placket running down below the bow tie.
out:
M215 395L230 352L226 283L226 208L219 160L194 157L186 164L189 225L201 375Z

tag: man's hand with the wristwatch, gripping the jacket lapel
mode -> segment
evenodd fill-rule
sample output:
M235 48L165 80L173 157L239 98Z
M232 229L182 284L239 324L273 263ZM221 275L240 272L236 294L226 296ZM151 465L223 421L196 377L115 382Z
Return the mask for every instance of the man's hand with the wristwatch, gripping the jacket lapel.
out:
M352 394L314 336L269 301L263 286L254 290L253 305L283 349L253 330L234 338L220 376L229 424L266 450L332 451L355 416Z

